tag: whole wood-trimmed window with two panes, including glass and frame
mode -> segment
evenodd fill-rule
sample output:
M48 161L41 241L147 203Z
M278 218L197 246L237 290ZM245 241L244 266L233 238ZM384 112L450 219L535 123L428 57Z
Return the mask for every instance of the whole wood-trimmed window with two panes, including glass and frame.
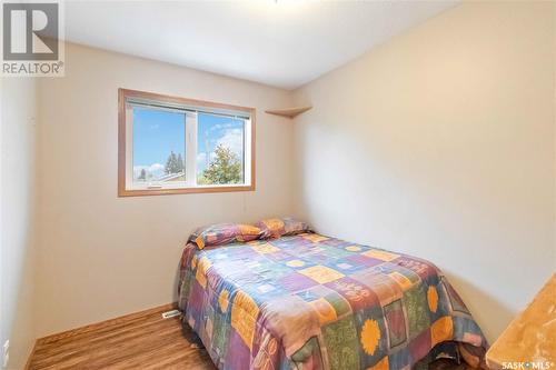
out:
M255 190L255 109L119 90L118 194Z

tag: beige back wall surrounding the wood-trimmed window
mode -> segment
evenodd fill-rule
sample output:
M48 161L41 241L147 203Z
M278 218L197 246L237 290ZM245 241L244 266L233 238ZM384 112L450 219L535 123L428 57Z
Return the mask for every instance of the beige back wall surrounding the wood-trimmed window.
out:
M171 302L195 227L292 211L292 123L279 89L69 44L40 83L38 334ZM257 190L117 198L118 88L257 108Z

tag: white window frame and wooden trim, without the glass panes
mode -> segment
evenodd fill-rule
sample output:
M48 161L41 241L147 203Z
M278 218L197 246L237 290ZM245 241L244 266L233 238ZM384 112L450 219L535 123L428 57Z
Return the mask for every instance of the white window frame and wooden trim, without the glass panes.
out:
M186 181L133 182L133 107L168 109L185 114ZM244 183L197 184L198 113L234 117L244 124ZM255 190L255 109L221 104L150 92L119 89L119 168L118 196L155 196L171 193L228 192Z

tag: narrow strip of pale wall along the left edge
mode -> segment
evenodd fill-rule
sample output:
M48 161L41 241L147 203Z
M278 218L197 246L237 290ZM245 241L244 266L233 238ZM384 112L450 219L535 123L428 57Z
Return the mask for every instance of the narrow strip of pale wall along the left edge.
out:
M22 369L34 342L36 81L0 78L0 348L9 339L8 369Z

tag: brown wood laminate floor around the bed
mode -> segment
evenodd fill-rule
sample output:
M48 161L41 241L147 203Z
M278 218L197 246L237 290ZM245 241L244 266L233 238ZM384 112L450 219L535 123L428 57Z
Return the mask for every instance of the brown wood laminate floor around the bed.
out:
M39 339L28 369L215 370L205 349L181 331L178 318L162 319L169 306ZM190 338L190 339L188 339ZM431 370L467 370L437 361Z

